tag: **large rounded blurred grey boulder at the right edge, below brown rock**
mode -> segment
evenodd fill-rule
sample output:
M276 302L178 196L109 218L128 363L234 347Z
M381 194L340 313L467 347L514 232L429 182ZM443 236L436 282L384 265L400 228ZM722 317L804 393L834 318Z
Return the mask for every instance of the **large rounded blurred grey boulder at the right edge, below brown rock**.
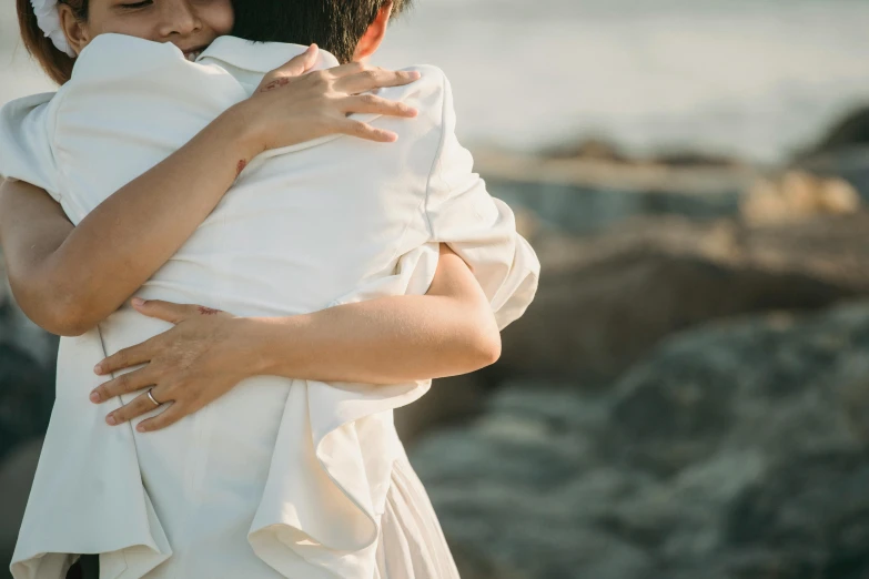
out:
M786 456L865 444L842 396L869 353L869 308L769 315L676 336L616 386L623 457L659 476L721 448ZM857 376L855 376L857 374Z

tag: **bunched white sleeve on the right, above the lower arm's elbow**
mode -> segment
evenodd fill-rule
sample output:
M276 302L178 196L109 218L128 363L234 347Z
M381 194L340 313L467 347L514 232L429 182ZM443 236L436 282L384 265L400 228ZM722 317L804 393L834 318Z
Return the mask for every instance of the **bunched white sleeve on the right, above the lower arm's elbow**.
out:
M473 158L455 135L453 94L445 77L443 95L443 136L425 201L431 241L446 243L468 264L503 329L534 299L540 264L516 232L513 211L489 195L473 172Z

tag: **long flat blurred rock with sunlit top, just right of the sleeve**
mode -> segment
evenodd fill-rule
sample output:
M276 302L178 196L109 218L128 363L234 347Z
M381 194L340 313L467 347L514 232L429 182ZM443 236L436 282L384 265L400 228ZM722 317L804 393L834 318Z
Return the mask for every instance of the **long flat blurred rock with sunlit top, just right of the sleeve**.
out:
M740 196L760 176L744 165L629 164L485 151L475 159L493 195L572 235L595 234L644 215L734 217Z

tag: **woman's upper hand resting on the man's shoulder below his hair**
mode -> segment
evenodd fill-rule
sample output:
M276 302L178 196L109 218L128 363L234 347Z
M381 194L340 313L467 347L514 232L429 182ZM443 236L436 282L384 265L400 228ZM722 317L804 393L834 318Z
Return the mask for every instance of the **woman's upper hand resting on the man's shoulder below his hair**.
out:
M417 111L406 104L362 93L408 84L420 78L418 72L393 72L358 62L312 72L317 53L312 44L302 55L266 74L253 95L233 108L252 131L255 150L290 146L336 133L394 142L397 135L392 131L347 116L416 116Z

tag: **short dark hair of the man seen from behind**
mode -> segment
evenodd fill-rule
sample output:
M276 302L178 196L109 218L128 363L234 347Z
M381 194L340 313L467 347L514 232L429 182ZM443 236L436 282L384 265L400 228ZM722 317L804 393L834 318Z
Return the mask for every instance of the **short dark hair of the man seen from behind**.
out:
M390 0L235 0L233 34L255 42L316 43L340 62L350 62L356 44ZM393 0L393 16L412 0Z

